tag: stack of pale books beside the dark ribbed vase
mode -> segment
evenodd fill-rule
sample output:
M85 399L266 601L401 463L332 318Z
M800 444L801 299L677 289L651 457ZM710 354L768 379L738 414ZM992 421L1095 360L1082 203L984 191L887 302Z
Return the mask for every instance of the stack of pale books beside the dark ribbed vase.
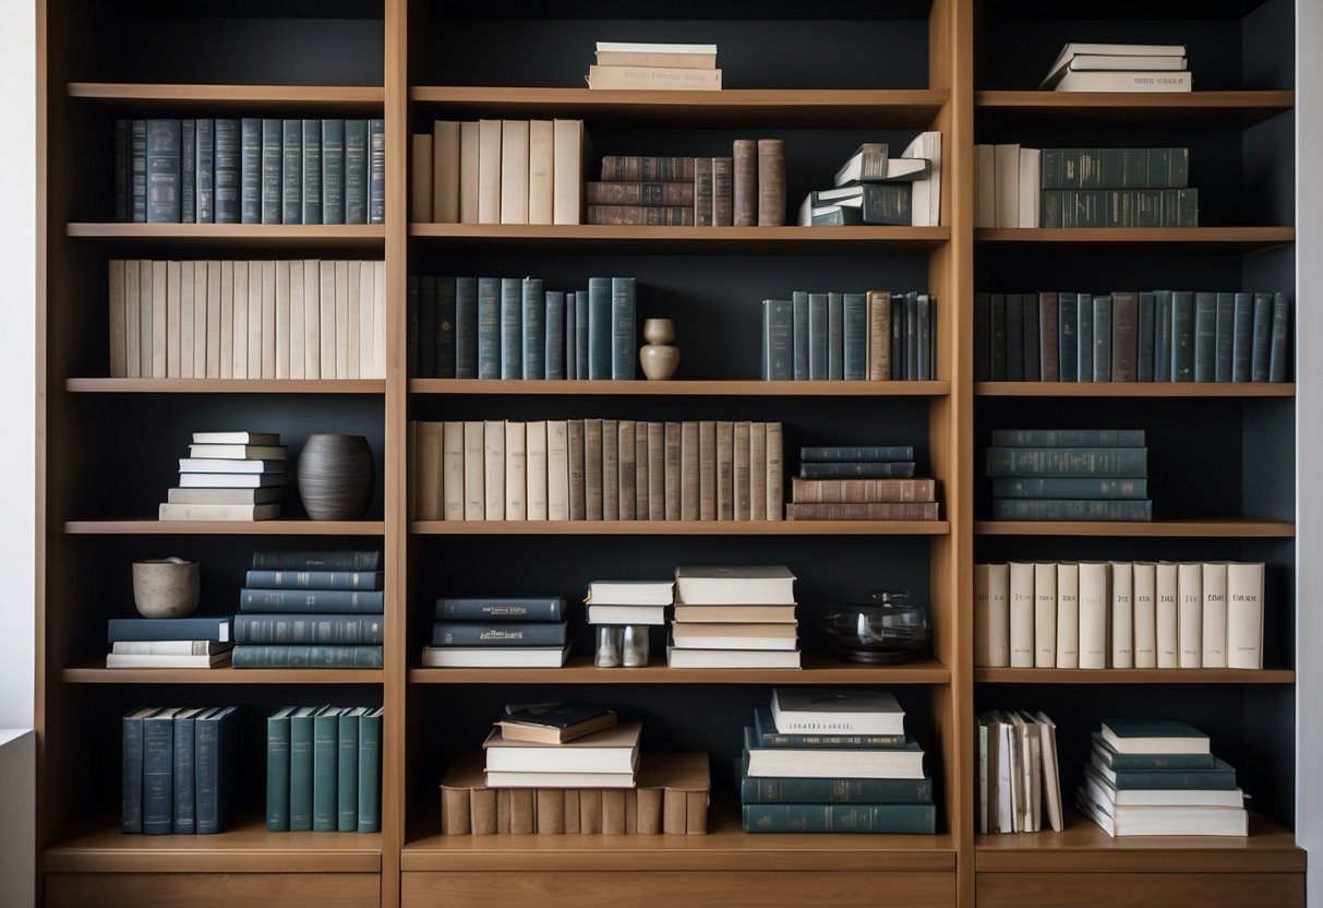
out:
M194 431L161 520L274 520L284 492L284 445L274 431Z

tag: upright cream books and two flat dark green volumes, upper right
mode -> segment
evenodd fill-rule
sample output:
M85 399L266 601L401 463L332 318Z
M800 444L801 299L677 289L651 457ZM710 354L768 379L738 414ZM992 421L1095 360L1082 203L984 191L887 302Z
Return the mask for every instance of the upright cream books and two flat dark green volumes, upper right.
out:
M1188 148L974 146L976 228L1199 226Z

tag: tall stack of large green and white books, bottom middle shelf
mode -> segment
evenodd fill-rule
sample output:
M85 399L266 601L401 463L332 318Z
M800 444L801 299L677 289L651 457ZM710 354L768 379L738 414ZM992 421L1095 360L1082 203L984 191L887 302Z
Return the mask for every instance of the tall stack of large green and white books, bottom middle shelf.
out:
M935 833L933 778L885 691L781 687L736 766L749 833Z

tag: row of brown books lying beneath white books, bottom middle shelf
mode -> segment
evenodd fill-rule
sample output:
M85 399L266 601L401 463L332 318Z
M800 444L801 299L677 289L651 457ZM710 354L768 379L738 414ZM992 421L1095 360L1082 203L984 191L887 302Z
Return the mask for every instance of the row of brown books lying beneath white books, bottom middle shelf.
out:
M490 788L483 752L458 754L441 781L443 835L700 835L708 754L644 753L634 788Z

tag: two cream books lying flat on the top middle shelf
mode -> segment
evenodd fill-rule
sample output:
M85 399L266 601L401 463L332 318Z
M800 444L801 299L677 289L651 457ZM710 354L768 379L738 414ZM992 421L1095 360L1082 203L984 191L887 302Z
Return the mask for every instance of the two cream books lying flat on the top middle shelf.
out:
M590 89L721 90L714 44L598 41L586 78Z

